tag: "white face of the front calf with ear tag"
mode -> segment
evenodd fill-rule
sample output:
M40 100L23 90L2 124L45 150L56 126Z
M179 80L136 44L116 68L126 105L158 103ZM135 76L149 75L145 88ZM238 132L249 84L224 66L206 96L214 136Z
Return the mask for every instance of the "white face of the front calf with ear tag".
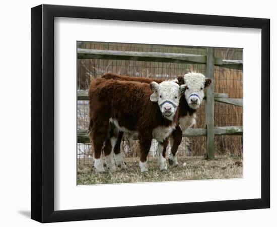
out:
M158 102L163 116L168 120L173 120L181 95L186 89L186 85L179 86L174 81L163 81L158 84L151 82L152 91L154 92L150 96L150 100Z

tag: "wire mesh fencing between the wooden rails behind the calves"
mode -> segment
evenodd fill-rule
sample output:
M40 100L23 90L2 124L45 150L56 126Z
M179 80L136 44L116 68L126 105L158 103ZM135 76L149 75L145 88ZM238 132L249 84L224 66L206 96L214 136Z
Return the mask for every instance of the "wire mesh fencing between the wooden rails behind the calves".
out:
M173 52L205 55L203 47L168 46L155 44L78 42L78 48L143 51L143 52ZM242 60L242 49L216 48L215 55L226 60ZM151 77L172 79L194 71L205 74L204 64L161 63L129 60L79 59L77 61L78 90L87 90L92 80L103 74L112 72L119 75L136 77ZM242 71L215 66L215 92L228 93L231 98L242 98ZM78 130L88 129L89 106L88 101L78 100L77 103ZM205 128L205 101L197 110L197 124L195 128ZM242 126L242 107L216 102L215 126ZM242 154L242 136L216 136L216 155L230 153ZM153 140L149 152L149 159L156 158L157 142ZM137 161L139 149L137 141L123 141L121 151L125 161ZM183 138L178 148L178 155L203 155L205 153L205 137ZM93 149L89 143L78 143L78 164L93 163Z

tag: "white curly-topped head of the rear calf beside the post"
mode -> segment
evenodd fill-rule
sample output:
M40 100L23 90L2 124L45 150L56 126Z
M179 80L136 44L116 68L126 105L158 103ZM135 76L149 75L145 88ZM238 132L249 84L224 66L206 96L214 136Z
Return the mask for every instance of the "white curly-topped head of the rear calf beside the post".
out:
M187 103L190 108L197 109L203 100L204 88L209 87L212 80L201 73L187 73L182 78L186 85L185 97Z

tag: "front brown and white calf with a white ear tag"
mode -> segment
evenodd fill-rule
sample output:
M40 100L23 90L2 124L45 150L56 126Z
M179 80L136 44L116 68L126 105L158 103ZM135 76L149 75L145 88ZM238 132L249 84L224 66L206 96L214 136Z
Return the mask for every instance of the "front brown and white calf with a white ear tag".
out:
M148 171L147 155L152 139L159 142L160 167L166 165L162 156L163 142L178 124L178 105L185 85L174 81L140 83L96 79L89 88L90 135L94 146L96 172L104 172L101 151L107 167L115 170L111 145L114 129L137 135L140 143L140 168ZM109 130L107 130L109 129Z

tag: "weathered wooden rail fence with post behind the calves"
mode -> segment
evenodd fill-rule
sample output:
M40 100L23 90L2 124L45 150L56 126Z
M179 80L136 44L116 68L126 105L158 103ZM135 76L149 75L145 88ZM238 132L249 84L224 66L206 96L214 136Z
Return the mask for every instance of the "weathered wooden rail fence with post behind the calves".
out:
M205 129L188 129L183 137L206 136L206 159L215 158L215 135L242 135L242 126L215 127L215 101L242 106L242 98L229 98L227 93L214 91L214 66L242 70L243 64L239 60L223 60L215 56L214 48L206 48L206 55L163 52L135 52L117 50L96 50L78 48L78 59L106 59L106 60L133 60L147 62L167 62L184 64L205 64L206 77L212 79L210 87L206 90ZM78 100L88 100L87 91L78 91ZM86 130L79 130L78 143L87 143L89 138Z

